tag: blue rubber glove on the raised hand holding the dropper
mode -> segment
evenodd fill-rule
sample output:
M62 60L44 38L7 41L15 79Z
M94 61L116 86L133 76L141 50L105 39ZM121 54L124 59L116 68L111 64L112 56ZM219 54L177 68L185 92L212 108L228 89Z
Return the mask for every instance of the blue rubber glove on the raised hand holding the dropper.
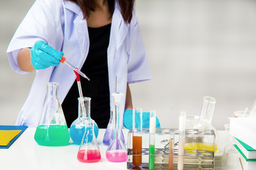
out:
M37 41L31 48L31 63L35 69L46 69L60 64L63 52L58 52L43 41Z

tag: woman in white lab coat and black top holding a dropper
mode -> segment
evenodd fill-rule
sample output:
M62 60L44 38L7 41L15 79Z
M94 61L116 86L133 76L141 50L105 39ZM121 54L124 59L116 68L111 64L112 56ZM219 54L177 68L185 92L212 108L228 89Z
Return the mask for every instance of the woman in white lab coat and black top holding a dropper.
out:
M68 126L77 118L75 74L60 64L60 55L90 77L91 81L81 79L83 96L92 98L91 117L99 128L107 127L114 107L110 94L115 77L117 91L125 98L121 113L132 108L128 84L151 79L134 0L37 0L16 30L7 55L14 71L36 70L17 125L37 126L48 81L60 83Z

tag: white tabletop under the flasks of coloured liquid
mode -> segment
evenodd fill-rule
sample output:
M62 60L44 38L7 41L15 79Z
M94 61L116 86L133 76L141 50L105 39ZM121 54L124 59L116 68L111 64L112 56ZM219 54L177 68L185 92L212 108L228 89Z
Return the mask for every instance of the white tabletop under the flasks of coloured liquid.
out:
M0 169L1 170L76 170L76 169L127 169L127 163L108 162L105 156L107 146L102 145L105 129L100 129L97 141L100 142L101 161L97 163L78 162L78 145L68 145L65 147L43 147L34 140L36 128L27 128L18 137L9 149L0 149ZM125 141L127 141L128 130L123 130ZM228 154L223 169L241 169L239 154ZM218 168L219 169L219 168Z

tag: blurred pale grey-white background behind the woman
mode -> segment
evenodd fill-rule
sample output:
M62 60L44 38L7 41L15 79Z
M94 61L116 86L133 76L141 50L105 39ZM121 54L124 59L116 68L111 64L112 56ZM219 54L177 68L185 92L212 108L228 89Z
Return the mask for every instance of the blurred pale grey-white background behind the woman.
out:
M14 125L34 73L17 74L6 48L31 0L0 2L0 125ZM156 110L164 128L179 111L199 115L203 96L216 99L213 126L256 99L256 1L137 0L137 16L154 79L132 84L134 107Z

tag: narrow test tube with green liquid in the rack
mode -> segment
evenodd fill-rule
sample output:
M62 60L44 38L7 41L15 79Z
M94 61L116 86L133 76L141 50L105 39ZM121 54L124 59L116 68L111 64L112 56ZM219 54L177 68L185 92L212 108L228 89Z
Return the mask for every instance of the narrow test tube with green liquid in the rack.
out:
M150 119L149 119L149 169L154 169L155 133L156 133L156 111L150 111Z

